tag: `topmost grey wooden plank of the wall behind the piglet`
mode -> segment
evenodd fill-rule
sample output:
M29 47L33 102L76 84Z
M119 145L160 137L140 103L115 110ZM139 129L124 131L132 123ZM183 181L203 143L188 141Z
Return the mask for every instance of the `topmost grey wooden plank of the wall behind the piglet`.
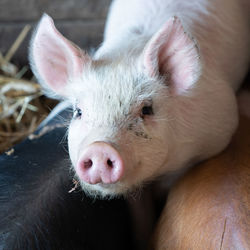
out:
M55 19L103 19L111 0L1 0L1 21L38 20L46 12Z

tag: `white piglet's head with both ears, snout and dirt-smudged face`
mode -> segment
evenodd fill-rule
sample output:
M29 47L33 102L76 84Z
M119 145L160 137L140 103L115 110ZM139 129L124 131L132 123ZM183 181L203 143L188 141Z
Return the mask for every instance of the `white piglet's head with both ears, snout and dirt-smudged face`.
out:
M173 18L139 53L92 59L63 37L48 15L34 32L32 70L49 95L72 102L69 154L76 177L91 194L125 193L180 167L169 97L197 82L197 46Z

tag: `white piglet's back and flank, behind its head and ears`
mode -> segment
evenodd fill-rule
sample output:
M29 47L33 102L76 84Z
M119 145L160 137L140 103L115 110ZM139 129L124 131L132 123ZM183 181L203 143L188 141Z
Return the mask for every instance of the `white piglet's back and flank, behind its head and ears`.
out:
M243 0L113 1L97 57L115 57L135 46L142 51L145 43L138 44L138 33L147 41L167 20L178 16L198 43L202 74L209 85L211 74L236 90L249 66L249 6Z

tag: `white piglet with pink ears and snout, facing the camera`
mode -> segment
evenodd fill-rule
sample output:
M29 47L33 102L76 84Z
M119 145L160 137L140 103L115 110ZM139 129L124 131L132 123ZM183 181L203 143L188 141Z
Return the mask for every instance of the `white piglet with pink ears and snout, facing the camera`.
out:
M47 93L73 105L69 154L85 191L125 194L228 145L248 15L239 0L115 0L92 57L42 17L31 66Z

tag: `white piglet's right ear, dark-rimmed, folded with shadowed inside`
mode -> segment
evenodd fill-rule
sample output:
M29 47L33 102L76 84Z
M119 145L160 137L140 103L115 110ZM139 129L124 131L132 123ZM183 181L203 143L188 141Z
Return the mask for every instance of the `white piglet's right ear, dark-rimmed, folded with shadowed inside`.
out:
M200 76L198 46L177 17L168 20L151 38L143 60L147 74L150 77L166 76L174 94L188 90Z

